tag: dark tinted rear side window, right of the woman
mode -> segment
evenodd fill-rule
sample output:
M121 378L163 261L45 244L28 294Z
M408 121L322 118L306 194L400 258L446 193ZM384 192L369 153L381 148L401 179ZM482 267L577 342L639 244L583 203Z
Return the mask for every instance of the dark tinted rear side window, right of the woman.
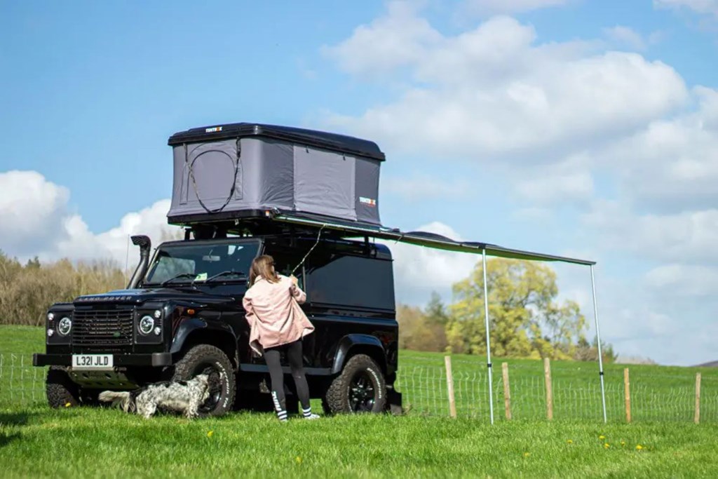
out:
M311 258L307 275L312 303L394 310L391 261L317 254Z

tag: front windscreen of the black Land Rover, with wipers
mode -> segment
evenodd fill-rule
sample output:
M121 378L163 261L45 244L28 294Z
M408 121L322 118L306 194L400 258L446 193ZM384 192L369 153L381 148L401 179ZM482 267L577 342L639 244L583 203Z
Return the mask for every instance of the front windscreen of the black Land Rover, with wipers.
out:
M246 239L160 246L144 284L246 281L258 250L258 241Z

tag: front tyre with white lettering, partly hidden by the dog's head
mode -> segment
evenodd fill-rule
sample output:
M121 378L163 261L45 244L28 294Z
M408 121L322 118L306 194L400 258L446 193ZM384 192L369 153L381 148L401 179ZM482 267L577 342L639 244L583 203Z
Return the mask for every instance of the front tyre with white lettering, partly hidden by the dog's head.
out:
M174 381L188 381L198 374L210 375L210 397L198 414L200 417L218 417L231 411L236 395L236 376L229 358L213 345L200 344L187 350L174 365Z

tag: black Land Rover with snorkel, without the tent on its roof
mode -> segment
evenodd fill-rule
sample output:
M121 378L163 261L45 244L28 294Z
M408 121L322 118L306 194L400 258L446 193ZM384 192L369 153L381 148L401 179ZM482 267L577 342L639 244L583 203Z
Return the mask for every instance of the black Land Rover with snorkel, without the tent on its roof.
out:
M205 372L213 389L202 414L221 415L234 405L271 409L263 394L269 393L268 370L248 347L242 307L251 261L270 254L282 274L301 264L294 274L316 327L304 339L312 397L322 398L328 412L400 411L386 246L296 230L228 236L211 229L222 237L198 239L217 236L198 227L195 238L161 244L151 261L149 238L134 236L141 261L128 289L50 308L47 352L34 355L35 366L50 366L50 406L93 403L104 389ZM294 391L287 392L291 397Z

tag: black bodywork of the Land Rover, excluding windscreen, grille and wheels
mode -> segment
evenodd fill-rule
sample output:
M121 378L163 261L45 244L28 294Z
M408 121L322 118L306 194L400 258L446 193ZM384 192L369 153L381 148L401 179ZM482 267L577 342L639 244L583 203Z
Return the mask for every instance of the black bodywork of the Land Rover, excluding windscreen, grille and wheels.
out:
M257 253L274 256L280 274L291 274L314 246L294 273L308 293L302 308L316 327L313 334L304 338L304 361L312 396L321 395L327 384L322 378L339 373L348 358L356 353L372 356L385 372L389 388L393 389L398 366L398 323L388 248L329 238L317 242L317 238L311 236L271 235L259 239L261 245ZM256 243L257 240L254 237L246 241ZM157 251L177 245L214 246L237 241L238 238L174 241L164 243ZM156 259L157 252L151 264ZM256 389L267 369L264 358L248 347L249 327L242 307L246 281L246 278L230 277L211 284L190 284L187 280L166 287L140 284L137 289L87 295L73 303L55 304L50 308L55 314L55 324L47 324L47 327L56 327L60 318L73 317L73 312L95 311L118 318L131 314L134 325L131 341L125 345L80 346L73 344L69 337L55 334L47 338L46 354L34 355L34 364L69 366L73 353L113 353L115 366L126 369L127 376L142 383L160 378L162 367L179 361L192 345L210 343L223 349L233 362L239 373L239 388ZM347 298L353 304L337 304L338 300L346 302ZM141 335L137 322L156 310L162 312L161 335Z

